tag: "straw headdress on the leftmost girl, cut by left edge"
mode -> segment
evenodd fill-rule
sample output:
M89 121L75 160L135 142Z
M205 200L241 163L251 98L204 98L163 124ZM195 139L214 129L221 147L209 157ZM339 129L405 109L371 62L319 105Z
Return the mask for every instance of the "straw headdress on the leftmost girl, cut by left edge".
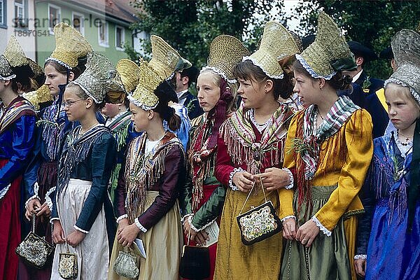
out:
M11 80L16 78L12 67L29 64L25 52L22 50L15 36L10 36L3 55L0 55L0 80Z

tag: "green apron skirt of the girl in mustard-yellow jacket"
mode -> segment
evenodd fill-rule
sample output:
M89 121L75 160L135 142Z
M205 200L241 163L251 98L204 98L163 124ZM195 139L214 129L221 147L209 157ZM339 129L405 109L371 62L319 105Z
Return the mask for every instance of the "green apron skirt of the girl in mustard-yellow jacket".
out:
M306 212L306 203L297 214L300 227L314 216L328 201L337 186L312 186L312 209ZM293 196L293 209L297 213L297 191ZM280 279L293 280L351 280L349 253L343 218L339 219L330 237L319 232L309 248L298 241L286 241L283 246L283 263Z

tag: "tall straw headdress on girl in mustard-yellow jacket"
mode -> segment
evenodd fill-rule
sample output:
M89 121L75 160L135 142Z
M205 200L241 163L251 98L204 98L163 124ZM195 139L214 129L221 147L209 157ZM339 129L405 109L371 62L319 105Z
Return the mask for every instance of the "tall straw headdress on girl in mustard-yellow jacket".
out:
M301 55L296 55L300 64L312 78L330 80L337 71L356 69L354 56L350 52L342 31L324 12L319 13L318 29L314 43Z

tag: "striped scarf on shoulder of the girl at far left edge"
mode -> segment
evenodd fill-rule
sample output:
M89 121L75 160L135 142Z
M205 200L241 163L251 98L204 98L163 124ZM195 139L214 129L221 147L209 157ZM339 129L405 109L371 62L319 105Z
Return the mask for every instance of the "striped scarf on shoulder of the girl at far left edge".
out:
M9 125L21 116L36 116L34 106L23 97L16 97L6 108L3 106L4 104L0 102L0 133L5 132Z

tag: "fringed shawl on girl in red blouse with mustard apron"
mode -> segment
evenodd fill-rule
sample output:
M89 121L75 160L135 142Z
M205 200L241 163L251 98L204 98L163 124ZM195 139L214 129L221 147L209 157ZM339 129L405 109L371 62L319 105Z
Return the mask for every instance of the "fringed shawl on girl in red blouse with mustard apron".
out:
M293 112L286 104L280 104L273 113L272 126L267 127L262 134L261 141L255 142L255 133L251 126L251 110L242 105L221 126L220 135L223 137L228 153L235 165L245 164L246 171L251 174L260 172L255 156L261 158L261 162L269 161L269 165L279 165L283 162L283 148L278 148L279 142L284 146L290 119ZM274 153L267 157L266 153Z

